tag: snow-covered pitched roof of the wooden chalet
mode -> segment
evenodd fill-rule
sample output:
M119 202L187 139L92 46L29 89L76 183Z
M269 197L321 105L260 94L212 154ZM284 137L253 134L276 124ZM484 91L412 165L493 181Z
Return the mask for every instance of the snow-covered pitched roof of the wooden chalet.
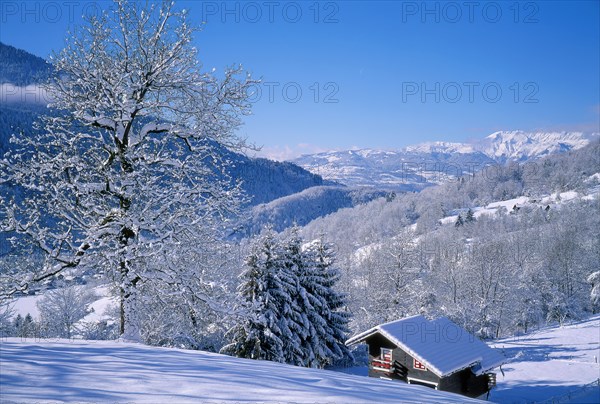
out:
M376 333L425 364L439 377L466 368L480 375L505 362L501 354L446 317L427 320L423 316L413 316L392 321L358 334L346 344L362 342Z

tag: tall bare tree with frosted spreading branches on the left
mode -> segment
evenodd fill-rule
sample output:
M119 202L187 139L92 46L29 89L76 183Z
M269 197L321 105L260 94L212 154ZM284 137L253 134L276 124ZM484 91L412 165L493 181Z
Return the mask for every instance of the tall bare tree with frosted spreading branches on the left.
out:
M186 279L186 268L145 264L190 239L210 242L235 209L219 150L242 146L234 129L253 83L238 67L220 78L201 70L185 10L140 4L118 0L69 35L48 85L57 113L41 136L13 137L20 148L0 160L0 184L31 195L0 196L1 229L46 257L3 279L2 294L66 271L104 274L119 286L120 331L132 339L139 287Z

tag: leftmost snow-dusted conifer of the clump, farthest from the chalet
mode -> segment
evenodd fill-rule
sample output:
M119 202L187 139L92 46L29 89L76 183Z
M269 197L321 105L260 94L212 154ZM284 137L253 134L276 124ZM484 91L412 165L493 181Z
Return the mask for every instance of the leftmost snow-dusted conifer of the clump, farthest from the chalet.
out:
M246 260L238 295L243 317L229 334L232 342L222 353L241 358L284 362L283 300L290 300L281 284L279 246L274 232L265 229ZM283 329L286 327L284 326Z

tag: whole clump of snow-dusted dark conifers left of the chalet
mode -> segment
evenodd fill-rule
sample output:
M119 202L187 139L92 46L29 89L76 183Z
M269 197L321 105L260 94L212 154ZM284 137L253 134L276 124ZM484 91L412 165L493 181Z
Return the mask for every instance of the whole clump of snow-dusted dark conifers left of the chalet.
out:
M303 248L298 228L283 240L263 231L246 261L238 293L244 313L222 352L323 367L348 355L349 314L331 247Z

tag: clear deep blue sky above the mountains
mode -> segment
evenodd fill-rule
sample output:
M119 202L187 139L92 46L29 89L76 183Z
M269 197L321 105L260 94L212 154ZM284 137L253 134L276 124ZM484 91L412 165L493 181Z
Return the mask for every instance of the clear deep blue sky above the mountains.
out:
M598 1L178 1L206 68L262 77L240 134L273 157L598 131ZM3 1L0 40L46 57L86 1Z

